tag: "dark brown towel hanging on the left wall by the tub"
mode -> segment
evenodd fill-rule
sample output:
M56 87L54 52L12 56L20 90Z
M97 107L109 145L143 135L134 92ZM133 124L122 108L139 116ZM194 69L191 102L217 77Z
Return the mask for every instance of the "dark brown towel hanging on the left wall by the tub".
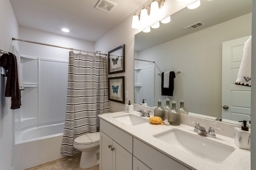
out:
M11 109L18 109L21 106L21 96L18 83L18 70L14 54L3 54L0 57L0 66L7 70L5 97L11 97Z

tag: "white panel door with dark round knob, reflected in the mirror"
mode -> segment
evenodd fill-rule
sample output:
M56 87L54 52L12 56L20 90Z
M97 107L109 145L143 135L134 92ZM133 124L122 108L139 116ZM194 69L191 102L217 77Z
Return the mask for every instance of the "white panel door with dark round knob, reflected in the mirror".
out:
M243 57L242 37L222 43L222 118L234 121L250 120L251 88L236 85L238 70Z

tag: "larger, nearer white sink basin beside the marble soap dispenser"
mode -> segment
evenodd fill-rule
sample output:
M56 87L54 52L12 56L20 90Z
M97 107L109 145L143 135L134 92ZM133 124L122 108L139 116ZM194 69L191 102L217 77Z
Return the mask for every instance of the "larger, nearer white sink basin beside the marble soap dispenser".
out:
M153 136L169 145L214 163L222 163L235 150L234 147L212 141L208 137L180 129L171 129Z

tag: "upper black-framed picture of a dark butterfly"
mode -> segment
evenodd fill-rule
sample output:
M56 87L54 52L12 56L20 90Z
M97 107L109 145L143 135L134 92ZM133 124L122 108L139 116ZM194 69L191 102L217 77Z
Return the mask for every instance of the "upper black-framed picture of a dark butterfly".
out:
M124 72L124 44L108 51L108 74Z

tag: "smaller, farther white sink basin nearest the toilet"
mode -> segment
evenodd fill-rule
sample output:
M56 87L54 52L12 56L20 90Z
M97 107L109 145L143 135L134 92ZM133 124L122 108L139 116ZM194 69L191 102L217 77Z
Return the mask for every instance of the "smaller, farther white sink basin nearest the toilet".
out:
M126 125L132 125L132 126L149 122L148 119L145 119L140 116L132 115L132 114L116 116L113 118L117 119L118 121L121 121L122 123L125 123Z

